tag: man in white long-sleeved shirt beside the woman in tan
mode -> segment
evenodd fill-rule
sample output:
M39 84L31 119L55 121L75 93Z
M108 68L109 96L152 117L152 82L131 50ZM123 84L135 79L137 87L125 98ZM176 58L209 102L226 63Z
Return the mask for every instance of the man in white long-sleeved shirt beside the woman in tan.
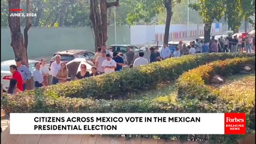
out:
M61 64L60 55L57 54L57 55L55 55L55 61L52 62L52 64L51 64L51 74L52 74L52 84L53 85L59 83L59 79L56 76L57 76L58 71L60 70L60 67L61 67L60 64Z

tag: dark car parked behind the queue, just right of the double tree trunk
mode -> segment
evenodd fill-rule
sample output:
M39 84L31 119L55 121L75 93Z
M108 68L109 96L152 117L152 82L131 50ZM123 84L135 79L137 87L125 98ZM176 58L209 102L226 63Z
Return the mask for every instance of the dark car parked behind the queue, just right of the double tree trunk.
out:
M137 46L135 45L131 45L131 44L115 44L115 45L110 45L109 47L113 47L113 52L121 52L124 54L124 58L126 58L126 55L127 55L127 47L128 46L131 46L132 50L134 51L135 53L135 56L134 56L134 60L139 58L139 49Z

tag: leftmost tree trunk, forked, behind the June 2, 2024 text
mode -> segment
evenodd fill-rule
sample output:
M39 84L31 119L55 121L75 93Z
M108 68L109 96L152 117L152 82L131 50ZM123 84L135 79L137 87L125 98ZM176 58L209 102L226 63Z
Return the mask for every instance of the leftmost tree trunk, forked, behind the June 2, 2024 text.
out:
M9 0L9 9L20 9L20 0ZM29 0L27 0L27 13L29 13ZM19 13L19 11L9 11L10 13ZM29 17L26 17L26 21L29 21ZM21 33L20 29L20 17L9 17L9 27L11 32L11 46L15 55L15 58L20 58L22 65L25 65L28 67L28 54L27 54L27 48L28 46L28 35L27 31L31 27L31 23L29 25L29 22L26 25L26 31L24 29L25 33L25 44L23 35ZM27 89L31 89L31 83L29 81L27 82Z

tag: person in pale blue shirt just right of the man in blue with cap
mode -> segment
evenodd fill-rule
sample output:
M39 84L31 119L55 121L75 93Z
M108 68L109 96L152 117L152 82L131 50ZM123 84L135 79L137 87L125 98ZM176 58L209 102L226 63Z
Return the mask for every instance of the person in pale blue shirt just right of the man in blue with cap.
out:
M33 71L33 77L35 82L35 87L42 87L44 86L44 76L42 74L42 71L40 71L40 63L35 63L35 70Z

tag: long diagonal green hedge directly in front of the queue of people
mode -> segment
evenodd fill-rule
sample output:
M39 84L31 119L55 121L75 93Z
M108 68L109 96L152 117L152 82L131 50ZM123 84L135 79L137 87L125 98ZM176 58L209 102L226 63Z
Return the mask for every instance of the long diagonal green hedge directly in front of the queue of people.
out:
M254 54L240 53L186 55L181 58L150 63L147 66L125 69L119 73L90 77L65 84L51 85L43 89L40 94L54 98L116 99L130 92L150 89L159 82L178 78L183 71L188 71L207 62L254 56ZM21 95L35 95L35 91L27 91Z

